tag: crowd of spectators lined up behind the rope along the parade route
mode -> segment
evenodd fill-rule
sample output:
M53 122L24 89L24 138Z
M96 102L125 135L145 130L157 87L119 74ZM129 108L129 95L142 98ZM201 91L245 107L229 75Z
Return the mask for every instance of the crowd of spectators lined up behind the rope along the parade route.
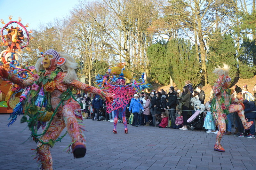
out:
M247 89L247 85L244 85L243 88L235 86L233 93L233 97L243 101L245 117L248 121L256 120L256 84L252 88L252 93ZM188 127L188 118L193 114L196 117L196 114L200 111L200 113L203 112L203 117L199 119L204 120L201 121L201 123L203 122L202 128L206 133L216 134L218 129L210 111L212 94L211 91L209 100L205 101L202 86L197 85L193 89L193 84L190 81L185 82L182 90L175 90L173 86L169 88L168 92L164 89L159 91L145 89L145 92L134 94L127 105L127 123L134 127L157 126L159 128L188 130L191 128ZM107 114L106 101L103 101L99 95L92 97L83 94L83 97L81 97L78 94L76 99L83 104L85 118L113 122L114 112ZM118 117L118 122L122 123L121 115ZM227 131L224 135L232 135L231 128L233 127L236 129L235 136L255 138L255 126L252 126L248 131L244 131L242 122L236 112L229 113L227 119Z

